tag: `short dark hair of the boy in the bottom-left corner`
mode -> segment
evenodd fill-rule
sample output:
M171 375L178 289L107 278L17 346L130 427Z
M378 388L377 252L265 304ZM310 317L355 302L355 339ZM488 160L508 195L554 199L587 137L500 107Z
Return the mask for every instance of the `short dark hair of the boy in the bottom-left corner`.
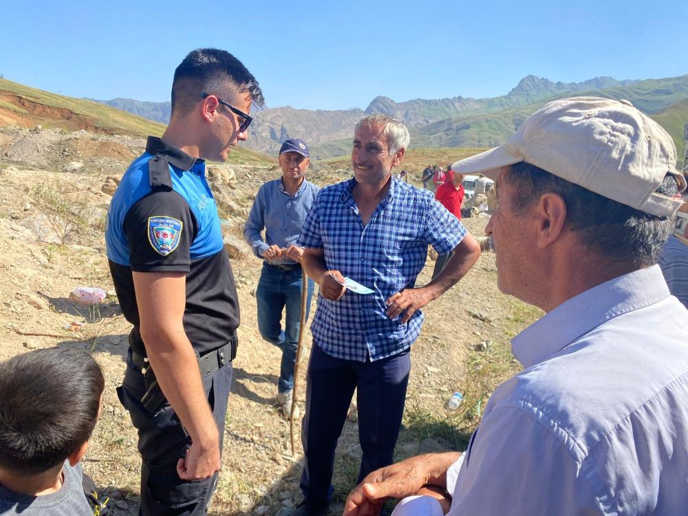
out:
M0 363L0 468L35 475L64 462L89 440L104 387L85 351L50 347Z

